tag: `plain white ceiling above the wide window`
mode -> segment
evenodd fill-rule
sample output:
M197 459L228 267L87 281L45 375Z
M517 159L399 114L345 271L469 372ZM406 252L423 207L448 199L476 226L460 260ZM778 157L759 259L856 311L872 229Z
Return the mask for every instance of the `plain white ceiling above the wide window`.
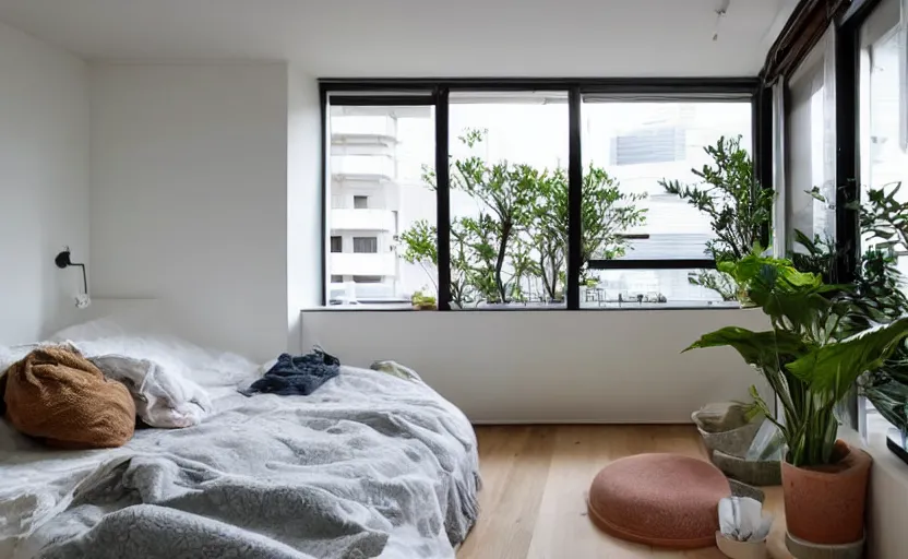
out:
M0 0L89 59L280 59L316 76L755 75L797 0Z

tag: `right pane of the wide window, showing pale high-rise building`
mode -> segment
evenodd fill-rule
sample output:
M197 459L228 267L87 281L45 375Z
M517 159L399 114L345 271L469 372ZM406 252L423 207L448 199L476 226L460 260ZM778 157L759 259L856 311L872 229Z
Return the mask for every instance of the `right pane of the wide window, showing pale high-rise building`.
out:
M582 110L584 260L710 259L707 242L717 238L710 216L668 192L664 182L708 188L692 169L716 166L705 148L716 147L720 139L726 153L741 151L750 157L751 103L585 96ZM744 162L742 169L734 176L752 185L752 165ZM601 307L617 305L619 295L622 301L643 295L654 305L722 300L715 290L692 285L689 275L679 270L585 270L582 280L605 294L609 305L598 305L594 297Z

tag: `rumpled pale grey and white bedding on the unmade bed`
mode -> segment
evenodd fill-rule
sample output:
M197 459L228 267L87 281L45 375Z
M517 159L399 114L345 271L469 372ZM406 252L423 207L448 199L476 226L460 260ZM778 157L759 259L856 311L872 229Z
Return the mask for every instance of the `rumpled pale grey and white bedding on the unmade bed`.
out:
M447 558L476 519L473 428L418 378L342 367L310 396L247 397L260 368L237 356L97 325L58 337L178 368L214 412L103 451L0 421L0 557Z

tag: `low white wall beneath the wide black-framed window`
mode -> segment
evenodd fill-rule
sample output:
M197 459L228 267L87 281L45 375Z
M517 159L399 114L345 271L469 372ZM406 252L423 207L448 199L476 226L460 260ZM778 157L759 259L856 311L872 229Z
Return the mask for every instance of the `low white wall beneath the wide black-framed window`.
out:
M686 423L758 376L731 349L681 350L758 310L304 311L302 346L414 367L478 423Z

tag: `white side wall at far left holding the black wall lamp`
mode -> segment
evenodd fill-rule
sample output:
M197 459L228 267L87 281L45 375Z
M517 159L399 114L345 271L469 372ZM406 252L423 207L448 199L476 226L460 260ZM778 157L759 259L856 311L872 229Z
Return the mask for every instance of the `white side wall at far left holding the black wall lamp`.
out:
M34 342L75 313L88 258L87 69L0 23L0 344Z

